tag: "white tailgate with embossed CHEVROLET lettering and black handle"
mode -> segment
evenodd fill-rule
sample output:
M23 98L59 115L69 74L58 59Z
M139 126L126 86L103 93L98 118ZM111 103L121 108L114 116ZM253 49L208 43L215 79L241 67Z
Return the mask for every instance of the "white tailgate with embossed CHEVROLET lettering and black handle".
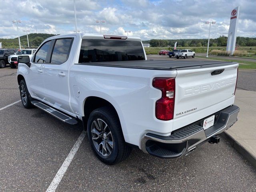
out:
M177 70L174 130L233 104L237 68L233 64Z

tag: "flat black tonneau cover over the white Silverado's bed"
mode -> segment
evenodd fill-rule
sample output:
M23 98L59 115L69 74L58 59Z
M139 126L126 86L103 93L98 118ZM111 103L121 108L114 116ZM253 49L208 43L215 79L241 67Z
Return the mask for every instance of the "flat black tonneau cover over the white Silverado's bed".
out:
M78 63L77 65L138 68L138 69L149 69L149 70L187 70L187 69L227 66L227 65L233 65L233 64L236 64L236 62L138 60L138 61L120 61L120 62L90 62L90 63Z

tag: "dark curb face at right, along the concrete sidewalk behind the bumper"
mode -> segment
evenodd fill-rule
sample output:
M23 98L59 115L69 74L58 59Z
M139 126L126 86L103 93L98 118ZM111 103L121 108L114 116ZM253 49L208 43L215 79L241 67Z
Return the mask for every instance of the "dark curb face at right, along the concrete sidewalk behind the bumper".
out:
M235 148L248 162L256 168L256 156L250 153L248 150L244 148L244 146L240 145L230 134L226 131L221 133L221 136L226 138L226 140L231 144L233 148Z

